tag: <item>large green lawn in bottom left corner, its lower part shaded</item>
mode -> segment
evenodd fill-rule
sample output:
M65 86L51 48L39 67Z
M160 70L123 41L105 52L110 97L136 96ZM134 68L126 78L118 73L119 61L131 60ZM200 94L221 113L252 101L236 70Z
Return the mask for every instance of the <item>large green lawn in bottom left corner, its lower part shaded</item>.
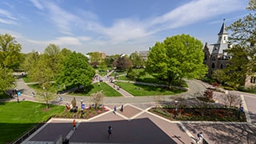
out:
M50 116L62 113L65 106L50 106L36 102L0 102L0 143L13 142L24 132L46 122Z

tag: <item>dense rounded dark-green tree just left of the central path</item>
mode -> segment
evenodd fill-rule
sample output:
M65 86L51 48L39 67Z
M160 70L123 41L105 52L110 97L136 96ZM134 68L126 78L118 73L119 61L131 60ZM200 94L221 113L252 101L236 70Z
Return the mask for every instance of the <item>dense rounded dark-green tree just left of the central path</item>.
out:
M58 83L80 86L90 86L95 70L89 65L88 59L81 53L73 52L68 55L58 77Z

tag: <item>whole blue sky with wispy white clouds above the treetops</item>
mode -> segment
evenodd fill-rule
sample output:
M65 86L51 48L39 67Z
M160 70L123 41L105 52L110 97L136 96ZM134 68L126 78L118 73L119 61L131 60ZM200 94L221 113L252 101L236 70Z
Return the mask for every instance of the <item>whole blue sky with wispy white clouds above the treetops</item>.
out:
M11 34L22 52L50 43L86 54L131 54L176 34L203 43L248 14L248 0L2 0L0 34Z

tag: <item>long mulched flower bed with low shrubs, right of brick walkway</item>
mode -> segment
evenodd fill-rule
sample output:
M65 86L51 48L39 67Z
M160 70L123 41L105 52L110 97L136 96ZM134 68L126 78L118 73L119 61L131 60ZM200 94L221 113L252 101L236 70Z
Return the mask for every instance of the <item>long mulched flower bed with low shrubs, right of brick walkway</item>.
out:
M220 121L220 122L246 122L246 115L237 108L207 107L207 108L178 108L174 107L152 108L149 110L172 121ZM175 117L176 114L176 117Z

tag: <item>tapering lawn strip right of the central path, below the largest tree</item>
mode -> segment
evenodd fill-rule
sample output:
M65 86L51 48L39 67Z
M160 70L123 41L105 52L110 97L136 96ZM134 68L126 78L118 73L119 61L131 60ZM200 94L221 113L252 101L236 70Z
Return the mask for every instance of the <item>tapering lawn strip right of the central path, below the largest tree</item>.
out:
M123 90L126 90L134 96L144 95L171 95L185 92L185 90L166 90L163 87L158 86L146 86L127 82L116 82L118 86L121 86Z

